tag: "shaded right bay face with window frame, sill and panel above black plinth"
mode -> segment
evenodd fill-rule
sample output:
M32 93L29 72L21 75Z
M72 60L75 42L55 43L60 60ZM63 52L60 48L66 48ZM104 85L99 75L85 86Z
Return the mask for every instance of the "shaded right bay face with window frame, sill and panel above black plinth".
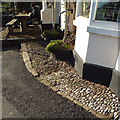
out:
M120 32L117 22L95 20L96 2L92 2L90 12L90 33L86 62L115 68L118 56L118 34Z

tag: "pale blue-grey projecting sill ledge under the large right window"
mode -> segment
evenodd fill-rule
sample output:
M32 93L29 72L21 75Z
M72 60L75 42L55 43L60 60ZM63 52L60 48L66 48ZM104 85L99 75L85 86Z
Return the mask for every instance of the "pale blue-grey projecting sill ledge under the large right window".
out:
M115 29L101 28L101 27L96 27L96 26L88 26L87 32L120 38L120 34L119 34L120 30L115 30Z

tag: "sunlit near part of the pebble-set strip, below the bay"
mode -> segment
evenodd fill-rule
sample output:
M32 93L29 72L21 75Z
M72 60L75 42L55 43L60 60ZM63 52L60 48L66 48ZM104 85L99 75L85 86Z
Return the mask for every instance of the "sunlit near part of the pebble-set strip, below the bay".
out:
M64 78L61 78L64 76ZM109 88L80 79L75 73L62 71L45 77L51 84L74 100L82 102L106 116L113 116L120 110L118 97Z

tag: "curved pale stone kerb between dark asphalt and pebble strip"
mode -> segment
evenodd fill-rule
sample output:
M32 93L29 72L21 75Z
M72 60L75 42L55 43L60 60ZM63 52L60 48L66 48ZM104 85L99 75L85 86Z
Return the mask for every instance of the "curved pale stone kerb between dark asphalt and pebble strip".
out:
M39 74L37 73L37 71L32 67L31 65L31 61L30 61L30 57L27 51L27 47L25 45L25 43L21 43L21 52L22 52L22 57L23 60L25 62L25 66L27 68L27 70L34 76L37 77ZM41 83L43 83L44 85L48 86L49 88L51 88L53 91L55 91L57 94L61 95L62 97L65 97L67 99L69 99L70 101L74 102L75 104L83 107L84 109L86 109L88 112L92 113L93 115L95 115L98 118L112 118L113 116L105 116L100 112L97 112L95 110L93 110L92 108L82 104L82 102L79 102L77 100L74 100L72 97L68 96L67 94L59 91L56 87L53 87L52 85L50 85L50 83L47 80L42 80L40 81Z

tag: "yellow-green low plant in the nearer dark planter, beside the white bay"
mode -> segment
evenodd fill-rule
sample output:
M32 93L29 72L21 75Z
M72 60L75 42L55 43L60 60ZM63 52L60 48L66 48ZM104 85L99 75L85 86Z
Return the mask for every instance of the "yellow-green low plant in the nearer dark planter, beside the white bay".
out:
M46 52L54 52L59 49L68 49L69 46L66 43L63 43L63 40L51 40L50 43L46 46Z

